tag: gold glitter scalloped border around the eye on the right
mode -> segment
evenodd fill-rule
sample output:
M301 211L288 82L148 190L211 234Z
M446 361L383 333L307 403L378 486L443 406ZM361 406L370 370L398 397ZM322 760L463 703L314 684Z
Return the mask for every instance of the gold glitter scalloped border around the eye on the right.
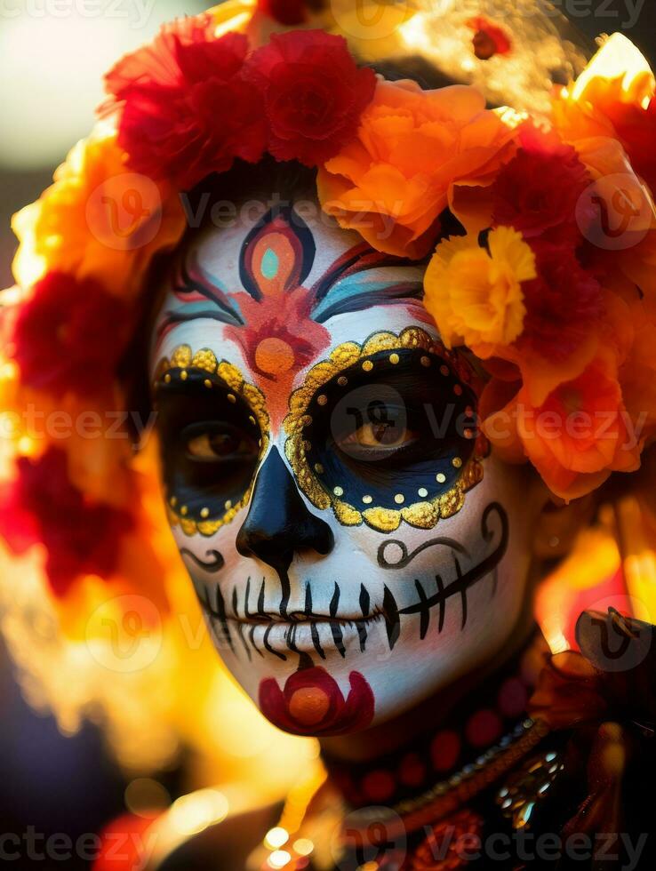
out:
M435 499L425 499L397 509L375 506L360 509L340 499L342 495L340 487L334 488L332 492L327 491L317 477L322 470L310 466L306 456L305 428L312 423L308 407L317 392L339 376L340 372L345 372L360 361L363 361L364 372L371 371L371 366L367 366L366 358L379 351L394 352L406 348L420 348L442 357L463 382L468 384L471 382L472 373L459 357L446 350L420 327L407 327L398 336L393 332L377 332L363 345L345 342L334 348L327 360L310 369L303 385L290 397L289 413L283 422L284 431L288 436L285 443L287 459L300 489L312 504L322 510L332 507L335 517L344 526L359 526L366 523L376 531L393 532L398 529L402 521L405 521L419 529L432 529L441 518L457 514L464 504L465 493L483 479L483 465L480 461L482 458L475 455L463 468L457 483ZM339 379L337 383L341 384L342 380ZM343 384L346 386L346 379L343 380Z

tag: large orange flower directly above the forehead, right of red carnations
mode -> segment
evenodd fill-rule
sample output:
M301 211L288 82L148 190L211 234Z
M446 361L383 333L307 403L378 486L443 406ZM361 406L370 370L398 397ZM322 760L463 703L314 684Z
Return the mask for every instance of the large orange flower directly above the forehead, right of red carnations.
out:
M490 225L480 197L459 213L458 188L487 187L514 154L515 132L475 88L422 91L379 80L356 139L320 168L324 211L379 251L423 257L447 206L474 232Z

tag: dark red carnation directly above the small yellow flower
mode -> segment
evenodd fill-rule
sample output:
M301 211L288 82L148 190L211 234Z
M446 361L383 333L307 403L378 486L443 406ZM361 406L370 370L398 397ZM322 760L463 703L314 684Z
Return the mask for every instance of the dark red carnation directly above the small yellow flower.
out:
M525 132L523 148L492 185L495 225L514 227L524 238L575 245L581 239L576 206L590 178L574 148Z

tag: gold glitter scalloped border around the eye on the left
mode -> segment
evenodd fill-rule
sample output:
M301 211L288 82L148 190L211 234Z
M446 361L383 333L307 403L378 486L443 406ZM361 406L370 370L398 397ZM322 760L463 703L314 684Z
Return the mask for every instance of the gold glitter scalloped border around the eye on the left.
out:
M160 360L156 367L156 381L171 380L175 377L180 378L180 380L187 380L189 370L200 370L201 372L207 372L208 375L219 378L235 397L240 396L245 404L249 406L253 420L255 420L260 428L261 459L268 449L270 429L267 406L261 391L255 385L249 384L248 381L244 380L244 376L235 365L225 360L219 362L210 348L201 348L194 354L188 345L180 345L178 348L175 348L171 359L164 357ZM210 379L205 382L208 388L212 387L212 383ZM233 504L227 501L225 503L225 510L222 515L218 517L208 516L201 519L187 516L186 507L180 505L175 495L172 495L166 501L169 523L172 526L180 526L185 535L191 536L196 535L196 533L204 536L213 535L216 531L220 530L221 526L230 523L237 512L248 504L251 499L251 493L252 484L238 502Z

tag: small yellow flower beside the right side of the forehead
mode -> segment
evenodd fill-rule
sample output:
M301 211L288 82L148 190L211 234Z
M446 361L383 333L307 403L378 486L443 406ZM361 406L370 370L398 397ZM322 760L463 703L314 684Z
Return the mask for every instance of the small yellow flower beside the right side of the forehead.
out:
M489 253L476 236L444 240L424 279L424 304L447 348L465 344L483 357L521 334L522 282L537 275L530 246L513 228L492 230L488 246Z

